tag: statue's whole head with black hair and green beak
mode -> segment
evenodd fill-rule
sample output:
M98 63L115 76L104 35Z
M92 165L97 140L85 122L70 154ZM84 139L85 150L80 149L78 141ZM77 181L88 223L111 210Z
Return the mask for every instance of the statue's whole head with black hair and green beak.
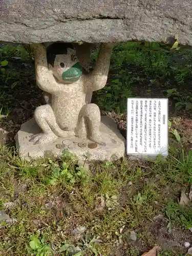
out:
M48 67L61 83L73 83L82 75L82 67L72 44L55 42L47 48Z

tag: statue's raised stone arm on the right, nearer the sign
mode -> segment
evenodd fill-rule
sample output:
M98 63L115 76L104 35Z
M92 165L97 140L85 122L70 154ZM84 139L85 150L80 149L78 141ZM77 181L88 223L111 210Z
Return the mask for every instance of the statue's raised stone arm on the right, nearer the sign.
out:
M113 43L102 43L94 70L86 75L86 87L90 91L102 89L108 79Z

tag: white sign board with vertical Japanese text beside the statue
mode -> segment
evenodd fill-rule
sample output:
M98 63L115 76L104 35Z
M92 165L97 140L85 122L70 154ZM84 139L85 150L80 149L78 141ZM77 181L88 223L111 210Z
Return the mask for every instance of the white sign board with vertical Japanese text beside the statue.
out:
M168 99L127 99L127 155L168 155Z

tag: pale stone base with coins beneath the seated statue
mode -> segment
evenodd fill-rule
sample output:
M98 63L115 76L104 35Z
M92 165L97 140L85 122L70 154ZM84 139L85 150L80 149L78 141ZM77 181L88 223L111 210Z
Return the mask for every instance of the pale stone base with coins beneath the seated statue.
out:
M40 133L34 119L22 124L20 130L15 136L16 147L20 157L26 160L31 158L44 157L45 153L52 153L55 157L61 156L62 151L68 149L71 153L75 154L79 160L117 160L125 155L125 139L117 129L116 123L107 116L101 117L100 126L101 136L103 141L106 142L105 146L97 145L96 148L89 148L88 139L80 139L71 137L68 139L58 138L54 142L45 143L42 145L30 142L30 138ZM86 147L79 147L78 143L87 143ZM57 148L56 145L63 145L62 148Z

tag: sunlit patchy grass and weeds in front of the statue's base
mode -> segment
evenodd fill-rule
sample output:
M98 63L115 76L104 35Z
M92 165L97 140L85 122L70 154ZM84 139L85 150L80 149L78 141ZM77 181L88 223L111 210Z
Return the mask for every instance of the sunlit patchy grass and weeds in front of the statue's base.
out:
M0 252L62 255L62 249L68 253L69 248L79 246L81 255L119 255L114 253L116 250L140 255L156 243L156 236L147 227L153 226L158 214L164 215L166 225L179 223L186 230L192 226L192 208L177 202L180 190L191 185L190 169L191 154L178 159L178 164L173 156L143 167L122 159L110 165L92 164L88 171L78 166L69 152L63 152L58 161L50 156L25 162L1 147L1 210L17 221L2 223ZM157 174L161 177L157 178ZM129 185L130 181L133 185ZM12 207L7 208L7 202L12 202ZM78 226L86 230L74 234ZM142 246L135 248L130 241L131 230L136 231ZM178 255L167 253L159 255Z

